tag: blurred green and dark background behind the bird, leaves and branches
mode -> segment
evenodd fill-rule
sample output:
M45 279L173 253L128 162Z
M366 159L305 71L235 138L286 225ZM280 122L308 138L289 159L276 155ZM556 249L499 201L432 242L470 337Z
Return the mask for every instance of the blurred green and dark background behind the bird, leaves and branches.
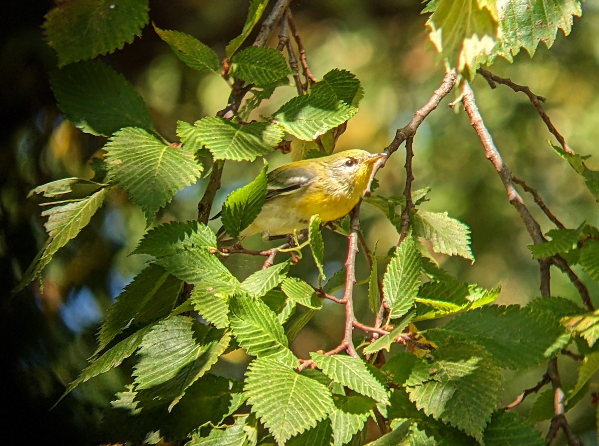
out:
M8 20L0 29L0 122L5 128L0 136L0 254L2 277L7 278L0 327L3 351L8 354L5 370L11 380L5 386L5 410L26 426L17 434L22 444L48 439L50 432L59 433L63 444L97 444L102 411L114 393L129 383L131 362L123 364L123 371L111 371L81 385L56 408L50 407L93 353L95 333L105 310L143 266L144 259L128 256L145 231L141 211L122 191L112 193L90 226L47 268L43 292L35 284L10 296L10 289L46 238L38 203L27 199L29 190L59 178L91 177L87 161L101 154L105 142L78 131L56 107L48 81L56 58L44 43L40 28L52 6L52 2L40 0L8 2L4 5ZM443 66L435 63L426 43L422 4L408 0L302 0L292 2L292 8L313 74L322 77L332 68L349 69L365 89L360 111L341 136L337 150L355 147L382 151L395 130L409 122L443 78ZM247 2L242 0L150 1L150 19L157 26L191 34L220 56L224 56L226 43L239 34L246 11ZM569 37L560 32L555 45L547 50L541 44L533 59L523 53L513 64L498 60L491 67L495 74L546 96L544 108L570 146L579 154L594 155L588 161L592 169L599 169L598 32L599 7L585 2L583 16L574 20ZM226 104L225 82L187 68L150 26L134 43L101 59L134 84L149 104L156 128L171 141L176 141L177 120L194 122ZM513 173L539 190L567 227L576 227L583 220L597 226L597 205L573 169L550 149L546 141L551 135L528 98L504 86L491 90L482 78L477 78L473 87L486 126ZM284 88L257 113L268 116L293 95L293 87ZM471 265L461 258L437 258L462 281L485 287L501 283L498 303L525 304L539 296L538 266L526 247L531 240L507 202L501 181L485 159L467 116L447 107L453 99L451 93L418 130L413 187L432 189L423 210L447 211L471 227L476 262ZM274 168L288 162L289 156L277 153L268 161ZM377 192L401 195L403 165L402 147L377 175ZM213 213L228 192L251 180L261 166L260 161L229 162ZM177 193L173 203L159 214L159 221L194 219L204 187L205 180L200 180ZM543 230L552 229L530 196L525 199ZM213 223L217 229L217 222ZM362 227L370 247L378 243L379 254L397 242L394 227L368 205L362 206ZM248 241L248 247L258 246L263 246L259 238ZM325 246L325 272L331 275L343 266L346 241L327 232ZM314 277L309 257L304 256L294 275ZM229 266L244 276L258 268L259 262L243 257ZM359 279L367 274L364 265L360 257ZM597 296L597 285L576 271L592 296ZM356 315L371 323L373 315L368 312L365 291L364 286L356 289ZM555 269L552 293L578 302L574 287ZM292 345L299 357L334 347L343 336L342 309L331 302L325 304ZM216 371L233 377L243 375L248 360L243 353L234 352L226 359ZM560 360L565 383L575 380L568 374L568 360ZM543 372L540 368L517 376L509 374L504 402L536 384ZM521 410L526 411L527 406ZM574 429L586 432L586 444L595 443L594 419L588 401L580 403L570 416Z

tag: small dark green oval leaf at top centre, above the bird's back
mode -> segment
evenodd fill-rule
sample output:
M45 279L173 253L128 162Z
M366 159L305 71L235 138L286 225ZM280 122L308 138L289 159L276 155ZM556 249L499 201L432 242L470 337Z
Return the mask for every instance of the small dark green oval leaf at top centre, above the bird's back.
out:
M276 48L247 47L231 57L231 74L249 84L267 86L292 71Z

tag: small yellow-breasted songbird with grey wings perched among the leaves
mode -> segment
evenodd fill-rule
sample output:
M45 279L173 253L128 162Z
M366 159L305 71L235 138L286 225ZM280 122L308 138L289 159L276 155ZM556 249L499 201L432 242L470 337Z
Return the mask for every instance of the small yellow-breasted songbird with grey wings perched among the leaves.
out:
M346 150L295 161L268 172L262 210L239 237L262 233L263 239L308 227L318 214L323 223L346 216L368 187L374 163L385 153ZM230 239L221 228L219 241Z

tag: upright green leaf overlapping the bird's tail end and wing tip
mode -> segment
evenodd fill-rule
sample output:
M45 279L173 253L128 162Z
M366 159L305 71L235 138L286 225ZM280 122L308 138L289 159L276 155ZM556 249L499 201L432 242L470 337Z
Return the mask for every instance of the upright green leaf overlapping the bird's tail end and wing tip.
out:
M268 164L265 162L258 177L246 186L234 190L226 198L220 221L230 236L237 237L262 210L267 192L267 169Z

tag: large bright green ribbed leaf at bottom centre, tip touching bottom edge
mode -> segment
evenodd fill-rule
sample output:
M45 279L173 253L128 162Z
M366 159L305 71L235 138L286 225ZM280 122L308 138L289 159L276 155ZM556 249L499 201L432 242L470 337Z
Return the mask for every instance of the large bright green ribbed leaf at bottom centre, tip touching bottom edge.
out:
M335 409L326 386L269 358L250 363L244 393L280 445L316 426Z

